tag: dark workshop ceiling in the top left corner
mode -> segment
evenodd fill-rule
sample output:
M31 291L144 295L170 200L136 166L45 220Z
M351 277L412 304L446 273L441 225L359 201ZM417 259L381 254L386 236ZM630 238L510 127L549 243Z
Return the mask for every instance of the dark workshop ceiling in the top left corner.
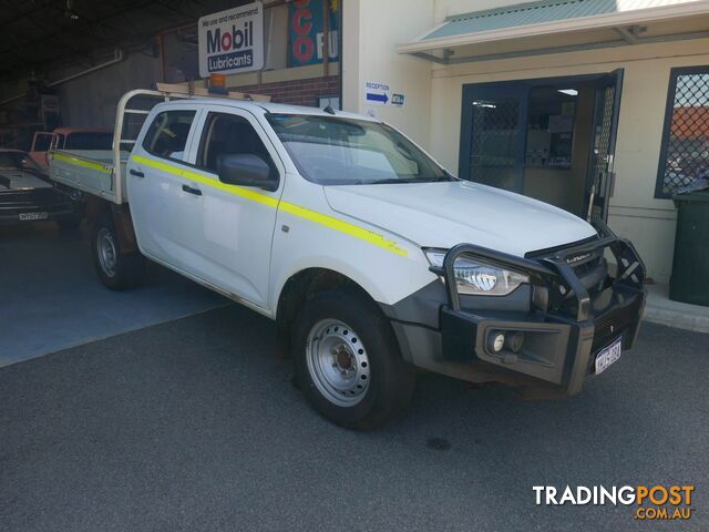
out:
M163 30L248 1L0 0L0 80L91 64L115 47L145 47Z

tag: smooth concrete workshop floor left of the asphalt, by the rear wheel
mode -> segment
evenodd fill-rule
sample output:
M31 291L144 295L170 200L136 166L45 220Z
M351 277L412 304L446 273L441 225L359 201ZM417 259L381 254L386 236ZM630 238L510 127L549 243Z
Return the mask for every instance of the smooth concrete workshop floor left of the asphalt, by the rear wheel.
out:
M94 273L86 231L0 228L0 367L227 303L157 265L144 287L111 291Z

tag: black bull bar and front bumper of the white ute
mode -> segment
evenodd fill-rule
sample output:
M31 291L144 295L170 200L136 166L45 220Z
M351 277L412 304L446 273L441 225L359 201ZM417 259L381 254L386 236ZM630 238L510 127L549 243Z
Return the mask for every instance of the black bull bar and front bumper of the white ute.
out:
M621 338L623 349L636 340L645 306L645 266L633 245L597 225L599 238L535 258L520 258L470 244L450 249L442 268L432 268L445 282L446 303L440 306L440 345L436 370L466 380L502 381L521 387L528 396L569 396L580 391L595 371L595 357ZM605 275L604 252L618 265ZM453 265L460 255L527 274L534 304L528 311L470 309L461 306ZM576 269L578 257L598 257L604 276L593 287ZM543 301L540 304L540 299ZM395 326L398 335L411 327ZM522 348L505 345L495 351L491 338L523 335ZM421 345L421 340L417 340ZM409 341L411 344L411 341ZM414 356L415 358L415 356ZM414 361L415 364L415 361ZM424 364L425 366L425 364Z

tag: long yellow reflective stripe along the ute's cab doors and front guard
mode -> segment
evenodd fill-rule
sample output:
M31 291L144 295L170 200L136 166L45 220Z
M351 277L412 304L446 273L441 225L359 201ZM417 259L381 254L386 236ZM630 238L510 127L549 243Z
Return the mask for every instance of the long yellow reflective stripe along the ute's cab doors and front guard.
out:
M301 207L299 205L288 203L288 202L278 202L278 200L268 196L266 194L261 194L260 192L251 191L249 188L244 188L237 185L227 185L226 183L222 183L218 180L214 180L207 177L199 172L195 172L189 168L183 168L179 166L174 166L172 164L164 163L162 161L155 161L154 158L144 157L143 155L133 155L133 161L136 163L142 163L147 166L152 166L157 170L162 170L164 172L171 173L173 175L177 175L179 177L184 177L186 180L196 181L207 186L213 186L220 191L227 192L229 194L235 194L237 196L244 197L245 200L249 200L251 202L260 203L261 205L266 205L274 208L280 208L281 211L292 214L294 216L298 216L299 218L308 219L319 225L323 225L331 229L338 231L340 233L345 233L347 235L353 236L361 241L368 242L376 246L382 247L388 252L395 253L397 255L401 255L402 257L409 256L408 252L399 245L384 238L379 233L374 233L369 229L364 229L359 227L358 225L351 224L349 222L345 222L343 219L336 218L333 216L328 216L327 214L321 214L316 211L310 211L309 208Z

